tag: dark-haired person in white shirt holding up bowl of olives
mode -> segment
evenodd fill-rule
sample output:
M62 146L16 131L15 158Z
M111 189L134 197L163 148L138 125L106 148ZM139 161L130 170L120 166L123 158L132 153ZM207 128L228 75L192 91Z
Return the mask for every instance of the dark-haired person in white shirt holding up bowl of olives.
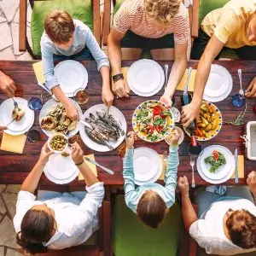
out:
M72 158L84 176L86 190L74 193L38 191L34 195L44 165L49 159L47 144L39 160L21 185L14 218L17 242L28 253L41 253L84 243L98 228L97 212L102 206L103 183L84 162L83 150L77 143L72 147ZM84 193L84 194L81 194Z

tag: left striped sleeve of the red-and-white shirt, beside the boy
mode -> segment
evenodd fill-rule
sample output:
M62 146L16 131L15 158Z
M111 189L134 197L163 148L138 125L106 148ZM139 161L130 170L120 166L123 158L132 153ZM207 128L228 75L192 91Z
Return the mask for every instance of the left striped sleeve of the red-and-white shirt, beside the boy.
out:
M131 28L130 9L133 9L134 6L132 3L131 6L128 3L127 1L123 3L113 16L113 28L119 33L125 33Z

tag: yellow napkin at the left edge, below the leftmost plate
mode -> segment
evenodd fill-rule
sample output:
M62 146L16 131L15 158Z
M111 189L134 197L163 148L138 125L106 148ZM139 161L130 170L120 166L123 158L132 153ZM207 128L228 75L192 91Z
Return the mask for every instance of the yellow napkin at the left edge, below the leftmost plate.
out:
M22 154L25 146L25 142L26 142L25 134L14 136L14 135L9 135L3 132L0 149L4 151Z

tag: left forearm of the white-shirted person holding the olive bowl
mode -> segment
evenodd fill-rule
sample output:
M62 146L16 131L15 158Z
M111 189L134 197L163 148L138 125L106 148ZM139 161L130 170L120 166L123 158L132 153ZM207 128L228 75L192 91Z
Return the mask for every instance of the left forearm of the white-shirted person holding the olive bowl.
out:
M38 160L37 164L33 167L32 171L28 174L25 181L22 183L20 190L34 193L38 187L40 177L44 170L44 163Z

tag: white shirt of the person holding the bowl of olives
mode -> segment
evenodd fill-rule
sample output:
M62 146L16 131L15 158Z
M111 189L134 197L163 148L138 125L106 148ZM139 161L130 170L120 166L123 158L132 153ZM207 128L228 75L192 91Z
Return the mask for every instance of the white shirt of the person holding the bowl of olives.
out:
M73 247L87 241L97 225L98 208L104 197L103 183L86 187L83 201L64 193L46 201L36 201L36 196L27 191L20 191L14 218L15 231L20 232L20 224L26 212L35 205L46 203L55 212L57 230L49 241L44 243L50 249Z

